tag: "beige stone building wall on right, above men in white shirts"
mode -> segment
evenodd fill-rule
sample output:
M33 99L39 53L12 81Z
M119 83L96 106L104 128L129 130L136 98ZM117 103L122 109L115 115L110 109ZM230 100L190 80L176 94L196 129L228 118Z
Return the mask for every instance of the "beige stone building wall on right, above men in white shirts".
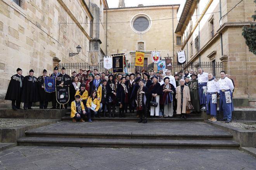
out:
M210 2L210 1L209 1ZM221 1L221 14L225 15L232 7L240 2L240 0L222 0ZM202 11L207 8L206 14L202 17L200 26L200 50L199 53L195 51L195 37L199 34L199 26L195 27L192 36L187 40L188 49L186 44L183 44L183 49L188 50L189 61L227 61L224 62L224 70L230 74L235 82L235 98L249 98L252 100L256 98L256 88L251 86L256 81L256 56L249 52L245 44L244 37L242 36L242 26L248 25L252 22L255 4L251 0L242 1L235 7L228 15L221 19L220 24L220 11L219 0L213 0L209 7L206 1L200 1L199 9ZM213 13L213 14L210 14ZM190 14L195 15L195 5L192 6ZM209 21L213 19L214 23L214 36L211 37L211 24ZM187 19L186 24L189 25ZM196 24L195 17L192 17L192 22ZM193 26L194 27L194 26ZM188 29L188 28L187 28ZM186 37L187 29L182 30L183 37ZM189 34L189 33L188 33ZM223 55L221 54L221 35L223 43ZM184 40L183 40L184 41ZM185 40L186 41L186 40ZM192 42L192 55L190 52L190 42ZM223 59L226 58L226 59ZM219 73L217 73L219 74Z

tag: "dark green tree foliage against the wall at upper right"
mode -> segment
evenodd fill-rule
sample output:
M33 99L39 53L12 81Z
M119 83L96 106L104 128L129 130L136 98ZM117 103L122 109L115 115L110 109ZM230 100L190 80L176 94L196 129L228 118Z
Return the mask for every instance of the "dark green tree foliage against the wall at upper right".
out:
M256 0L254 0L256 3ZM256 20L256 11L252 15L253 20ZM243 26L242 36L246 40L246 45L249 47L249 51L256 55L256 24L251 23L250 26Z

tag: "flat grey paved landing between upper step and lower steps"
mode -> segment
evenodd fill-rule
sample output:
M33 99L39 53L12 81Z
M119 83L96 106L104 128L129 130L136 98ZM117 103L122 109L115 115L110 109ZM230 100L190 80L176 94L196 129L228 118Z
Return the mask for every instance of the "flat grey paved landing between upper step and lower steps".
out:
M76 129L74 131L74 129ZM122 133L122 134L228 134L203 122L59 122L33 129L40 132Z

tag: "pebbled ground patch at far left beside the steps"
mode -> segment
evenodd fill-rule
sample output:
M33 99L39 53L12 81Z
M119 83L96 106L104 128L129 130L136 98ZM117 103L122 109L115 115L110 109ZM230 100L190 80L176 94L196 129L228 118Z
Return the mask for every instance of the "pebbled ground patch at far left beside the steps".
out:
M14 128L17 126L24 126L28 124L36 124L47 122L49 119L0 119L1 128Z

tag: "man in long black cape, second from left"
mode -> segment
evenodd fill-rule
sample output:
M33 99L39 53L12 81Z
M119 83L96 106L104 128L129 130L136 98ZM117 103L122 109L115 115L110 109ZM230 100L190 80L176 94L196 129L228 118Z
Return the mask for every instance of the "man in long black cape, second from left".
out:
M33 102L38 102L37 78L34 71L29 70L29 75L24 77L24 86L22 91L21 102L24 102L24 110L31 109Z

